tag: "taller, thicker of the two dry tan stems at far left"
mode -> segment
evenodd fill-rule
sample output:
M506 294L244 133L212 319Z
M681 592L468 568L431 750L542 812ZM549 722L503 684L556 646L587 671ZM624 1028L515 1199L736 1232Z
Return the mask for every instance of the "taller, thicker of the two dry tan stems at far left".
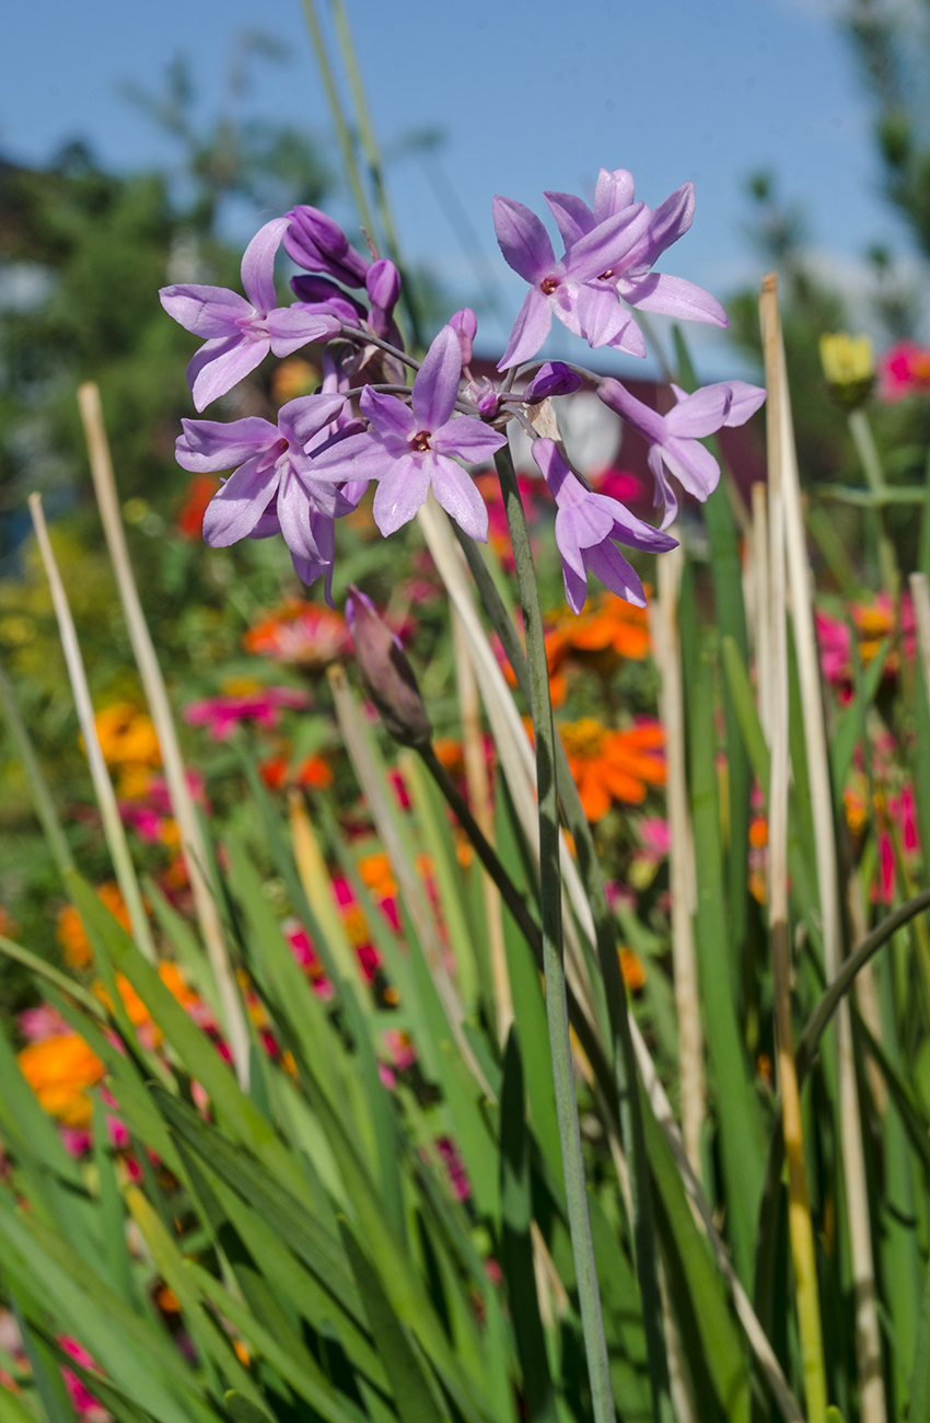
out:
M233 1056L236 1077L240 1086L249 1086L249 1029L246 1026L242 999L236 988L236 980L229 962L223 925L213 892L205 875L208 864L206 847L198 820L193 795L188 784L188 776L178 741L178 729L168 700L168 689L162 669L155 655L152 636L148 630L145 613L139 602L139 593L132 575L132 562L127 548L122 519L119 517L119 499L117 481L109 457L109 441L100 404L100 390L92 381L78 387L78 406L84 423L84 437L94 478L94 490L100 517L107 535L107 546L117 575L119 602L129 632L129 642L142 677L145 699L152 713L155 734L165 768L165 783L171 808L181 831L181 854L183 855L191 891L193 894L193 908L206 948L206 956L216 982L223 1026L229 1039L229 1050Z

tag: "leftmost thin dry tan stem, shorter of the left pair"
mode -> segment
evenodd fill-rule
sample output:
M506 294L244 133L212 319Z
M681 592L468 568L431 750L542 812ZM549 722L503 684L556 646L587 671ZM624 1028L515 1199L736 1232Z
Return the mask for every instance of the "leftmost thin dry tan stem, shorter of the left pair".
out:
M81 647L78 645L74 618L71 616L71 608L68 605L68 595L64 591L58 564L55 562L55 555L51 548L51 539L48 538L46 515L43 514L41 494L30 494L28 511L33 515L38 552L41 554L46 576L48 579L48 588L51 589L51 602L58 622L58 636L61 638L64 660L68 667L74 704L77 707L78 723L81 726L81 736L84 737L84 753L87 756L87 764L94 783L94 794L97 795L97 804L100 805L100 814L104 822L107 847L117 872L119 892L122 894L129 914L132 938L135 939L141 953L145 955L149 963L154 963L156 958L155 942L152 939L152 931L145 914L145 905L142 904L142 894L139 891L135 865L132 864L132 857L129 855L127 832L124 830L122 820L119 818L117 795L112 788L112 781L109 780L109 771L107 770L107 761L104 760L100 737L97 734L94 704L87 684L84 659L81 657Z

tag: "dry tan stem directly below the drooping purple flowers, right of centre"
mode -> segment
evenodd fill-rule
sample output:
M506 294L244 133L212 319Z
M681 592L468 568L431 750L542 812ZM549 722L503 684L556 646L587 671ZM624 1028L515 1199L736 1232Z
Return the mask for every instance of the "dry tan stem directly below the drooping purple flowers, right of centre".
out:
M688 1161L701 1175L701 1133L707 1117L704 1087L704 1032L693 915L697 908L694 850L684 740L684 692L678 642L678 591L684 551L681 545L657 561L658 603L653 605L653 643L661 673L660 710L666 727L666 804L671 879L671 952L675 1012L678 1016L678 1077L681 1128Z

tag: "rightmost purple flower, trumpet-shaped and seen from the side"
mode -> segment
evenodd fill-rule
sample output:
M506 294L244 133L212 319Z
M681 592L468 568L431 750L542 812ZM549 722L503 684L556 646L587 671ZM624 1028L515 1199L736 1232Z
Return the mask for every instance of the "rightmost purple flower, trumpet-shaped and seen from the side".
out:
M698 441L712 435L722 425L742 425L765 400L765 391L748 386L745 380L729 380L718 386L704 386L688 396L678 386L671 387L678 401L668 414L644 406L620 384L604 380L597 394L619 416L648 440L648 467L656 477L656 504L666 504L663 528L668 528L678 512L678 499L667 472L695 499L707 499L717 488L720 465Z

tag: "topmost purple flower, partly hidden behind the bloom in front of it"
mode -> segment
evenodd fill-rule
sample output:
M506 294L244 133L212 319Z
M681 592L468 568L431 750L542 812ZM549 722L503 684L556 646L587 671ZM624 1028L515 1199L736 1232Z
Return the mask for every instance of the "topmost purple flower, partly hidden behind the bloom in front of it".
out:
M576 242L594 232L597 226L616 218L633 206L633 175L626 168L616 172L600 169L594 189L594 211L570 192L545 194L549 209L556 219L566 245L566 255ZM646 208L648 221L646 231L624 256L604 270L602 280L610 282L617 295L644 312L661 312L684 322L708 322L711 326L727 326L727 313L720 302L680 276L663 276L653 272L653 263L683 238L694 219L694 184L685 182L677 192L656 208Z

